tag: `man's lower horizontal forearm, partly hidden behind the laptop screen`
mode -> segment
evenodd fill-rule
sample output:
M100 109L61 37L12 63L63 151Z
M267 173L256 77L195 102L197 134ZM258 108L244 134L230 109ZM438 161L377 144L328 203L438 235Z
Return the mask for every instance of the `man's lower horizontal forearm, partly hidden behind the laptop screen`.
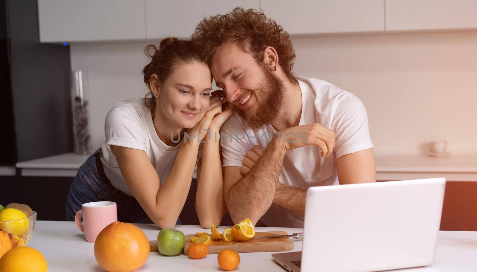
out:
M290 187L280 182L277 184L273 203L292 212L305 215L306 191Z

